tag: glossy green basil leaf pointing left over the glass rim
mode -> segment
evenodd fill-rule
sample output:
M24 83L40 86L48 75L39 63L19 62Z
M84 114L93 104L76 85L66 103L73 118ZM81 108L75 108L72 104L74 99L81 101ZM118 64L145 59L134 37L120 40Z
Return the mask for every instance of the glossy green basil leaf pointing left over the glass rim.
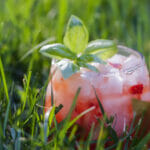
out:
M68 58L68 59L75 59L76 54L71 52L67 47L65 47L63 44L49 44L45 45L40 49L40 52L48 57L55 57L57 59L61 58Z

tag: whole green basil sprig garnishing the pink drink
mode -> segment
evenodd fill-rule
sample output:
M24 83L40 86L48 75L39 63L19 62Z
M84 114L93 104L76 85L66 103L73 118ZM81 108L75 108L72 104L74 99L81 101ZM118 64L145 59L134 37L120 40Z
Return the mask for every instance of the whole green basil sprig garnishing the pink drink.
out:
M89 42L89 34L84 23L76 16L71 16L64 36L64 44L45 45L40 52L51 58L56 58L64 79L80 70L80 67L98 71L91 62L105 63L105 59L117 52L114 41L98 39Z

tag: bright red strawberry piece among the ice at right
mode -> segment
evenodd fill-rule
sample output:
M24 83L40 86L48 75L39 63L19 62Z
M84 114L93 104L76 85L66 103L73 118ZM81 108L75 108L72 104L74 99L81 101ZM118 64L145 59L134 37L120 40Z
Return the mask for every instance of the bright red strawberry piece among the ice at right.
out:
M137 84L130 87L131 94L142 94L143 92L143 84Z

